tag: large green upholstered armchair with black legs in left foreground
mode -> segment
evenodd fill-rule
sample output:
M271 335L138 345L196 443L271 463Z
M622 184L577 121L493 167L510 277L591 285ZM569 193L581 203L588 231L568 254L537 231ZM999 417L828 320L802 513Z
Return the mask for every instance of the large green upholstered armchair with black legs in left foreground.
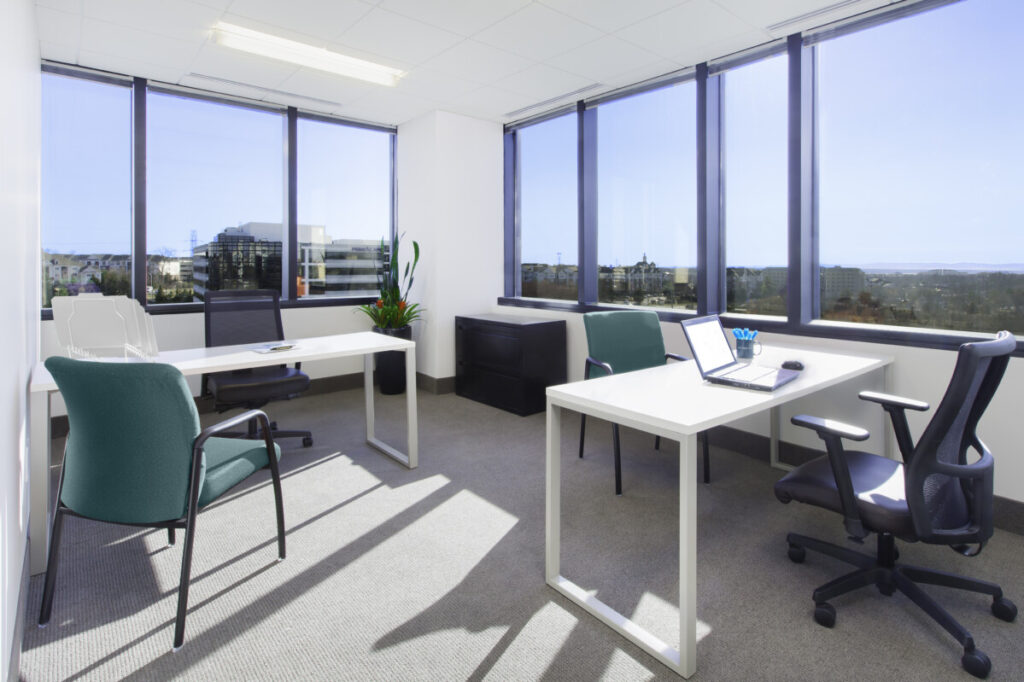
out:
M269 421L252 410L207 429L184 377L156 363L93 363L50 357L68 407L70 431L50 530L49 557L39 625L50 620L66 515L98 521L184 528L174 648L184 641L188 576L201 509L250 474L269 466L278 517L278 555L285 558L285 509ZM256 419L263 440L216 437ZM272 453L272 457L270 454Z

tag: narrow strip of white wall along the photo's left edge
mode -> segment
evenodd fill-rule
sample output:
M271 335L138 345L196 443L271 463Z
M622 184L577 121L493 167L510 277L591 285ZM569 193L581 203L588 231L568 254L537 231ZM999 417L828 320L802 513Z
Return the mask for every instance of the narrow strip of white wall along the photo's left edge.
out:
M31 0L0 2L0 676L15 646L28 536L28 384L39 321L39 39ZM19 646L20 643L17 643Z

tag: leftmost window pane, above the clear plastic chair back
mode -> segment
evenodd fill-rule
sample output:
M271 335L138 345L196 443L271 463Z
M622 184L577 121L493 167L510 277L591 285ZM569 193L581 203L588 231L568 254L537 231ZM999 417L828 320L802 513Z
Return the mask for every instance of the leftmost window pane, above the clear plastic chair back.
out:
M42 306L131 294L131 89L42 78Z

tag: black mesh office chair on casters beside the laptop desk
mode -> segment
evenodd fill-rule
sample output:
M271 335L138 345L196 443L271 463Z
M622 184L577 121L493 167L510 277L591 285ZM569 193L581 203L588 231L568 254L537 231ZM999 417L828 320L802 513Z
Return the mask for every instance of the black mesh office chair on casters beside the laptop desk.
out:
M948 545L965 556L974 556L991 538L994 464L975 430L1016 346L1009 332L999 332L993 341L961 346L946 394L916 444L910 437L906 410L925 411L927 403L869 391L860 394L889 413L903 464L845 451L843 438L864 440L868 437L864 429L806 415L793 418L794 424L817 432L827 455L797 467L775 483L776 497L785 503L796 500L842 514L855 542L869 532L878 534L877 556L795 532L786 536L790 558L796 563L803 562L810 549L857 566L814 591L814 620L818 624L826 628L836 624L829 599L868 585L887 596L899 590L956 638L964 647L964 670L976 677L988 675L992 664L975 648L971 633L918 584L990 595L992 613L1007 622L1017 616L1017 606L992 583L897 563L895 539ZM969 447L979 456L970 463Z

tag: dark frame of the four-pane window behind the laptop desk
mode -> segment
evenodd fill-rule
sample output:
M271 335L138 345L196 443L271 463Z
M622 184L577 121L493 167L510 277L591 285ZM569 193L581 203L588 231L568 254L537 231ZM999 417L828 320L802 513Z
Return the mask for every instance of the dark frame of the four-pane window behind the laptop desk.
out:
M665 308L653 309L663 322L675 323L696 315L717 313L728 326L757 328L763 332L803 336L811 338L831 338L846 341L882 343L888 345L911 346L955 350L961 344L990 338L990 334L954 330L935 330L890 327L857 323L834 322L820 318L820 291L818 286L818 197L817 197L817 50L820 42L869 29L881 24L928 11L961 0L919 0L915 3L900 4L865 12L849 19L796 33L784 39L766 43L743 52L697 65L693 70L677 72L660 79L653 79L631 88L599 95L593 99L577 102L581 113L581 154L578 160L581 173L581 213L592 201L596 207L596 197L588 197L588 187L583 184L587 178L588 165L596 158L596 148L583 143L586 139L586 121L582 113L593 111L604 101L630 96L655 87L663 87L686 78L695 78L697 83L697 240L698 240L698 291L697 311L682 312ZM725 225L723 222L723 176L722 155L722 83L719 75L730 69L750 63L775 54L785 53L788 65L787 101L787 314L785 317L750 315L726 311L726 266L725 266ZM564 113L565 109L559 110ZM590 257L584 250L585 240L596 242L596 222L581 218L581 287L578 300L554 302L542 299L522 298L520 292L510 282L510 272L518 271L518 167L514 158L517 151L516 130L544 120L551 113L515 121L505 126L505 254L506 286L505 295L499 297L500 305L522 308L540 308L561 312L591 312L600 310L628 309L624 306L599 303L596 287L593 291L583 285L584 268L596 265L596 251ZM596 117L595 117L596 118ZM596 131L593 133L596 139ZM509 159L510 154L513 156ZM596 193L596 184L590 187ZM513 213L510 215L510 212ZM596 215L594 217L596 221ZM509 263L510 258L515 258ZM512 284L513 286L510 286ZM596 282L595 282L596 285ZM1015 356L1024 356L1024 336L1018 336Z

